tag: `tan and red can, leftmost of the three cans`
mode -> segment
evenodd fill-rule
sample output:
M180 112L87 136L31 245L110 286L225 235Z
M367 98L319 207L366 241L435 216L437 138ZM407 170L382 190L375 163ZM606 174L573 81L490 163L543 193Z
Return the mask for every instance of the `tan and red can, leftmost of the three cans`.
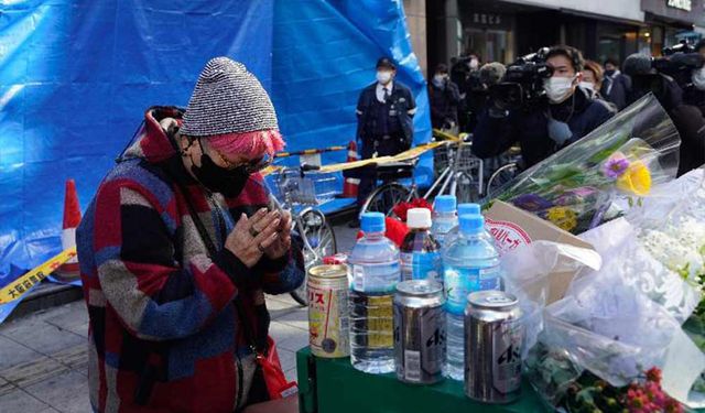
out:
M317 357L350 355L347 265L308 270L308 344Z

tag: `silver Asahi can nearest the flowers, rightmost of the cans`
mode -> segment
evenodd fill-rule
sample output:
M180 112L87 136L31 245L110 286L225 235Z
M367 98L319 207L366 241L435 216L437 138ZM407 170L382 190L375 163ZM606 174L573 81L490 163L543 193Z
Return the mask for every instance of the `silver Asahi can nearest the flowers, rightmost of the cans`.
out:
M521 390L524 326L519 302L503 291L470 293L465 308L465 394L510 403Z

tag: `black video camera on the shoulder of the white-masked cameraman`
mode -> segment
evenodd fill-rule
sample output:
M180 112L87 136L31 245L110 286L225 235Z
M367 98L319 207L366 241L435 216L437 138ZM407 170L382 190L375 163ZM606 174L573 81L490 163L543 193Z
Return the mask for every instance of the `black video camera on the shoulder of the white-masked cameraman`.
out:
M490 100L500 110L528 108L545 95L543 80L553 75L546 65L549 47L519 57L507 66L501 83L490 87Z

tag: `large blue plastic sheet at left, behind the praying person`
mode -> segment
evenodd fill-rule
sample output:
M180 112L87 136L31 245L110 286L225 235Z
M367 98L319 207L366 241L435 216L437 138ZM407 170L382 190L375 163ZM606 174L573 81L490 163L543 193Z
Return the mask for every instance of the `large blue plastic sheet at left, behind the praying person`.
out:
M144 110L185 106L209 58L270 87L273 13L273 0L0 3L0 286L10 264L59 252L65 180L85 208Z

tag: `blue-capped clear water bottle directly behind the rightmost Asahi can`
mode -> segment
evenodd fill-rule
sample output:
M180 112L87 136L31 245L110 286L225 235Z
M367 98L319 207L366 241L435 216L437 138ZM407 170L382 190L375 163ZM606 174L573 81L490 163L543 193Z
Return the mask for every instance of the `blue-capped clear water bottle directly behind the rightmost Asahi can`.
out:
M460 215L460 233L443 253L443 276L447 301L446 376L464 378L464 311L467 295L480 290L500 289L499 253L489 242L481 215Z

